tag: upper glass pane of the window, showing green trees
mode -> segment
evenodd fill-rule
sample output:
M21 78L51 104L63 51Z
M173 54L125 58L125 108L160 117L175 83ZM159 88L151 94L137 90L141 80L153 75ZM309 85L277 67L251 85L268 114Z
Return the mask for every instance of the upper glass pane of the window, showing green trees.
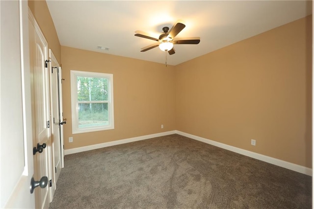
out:
M108 101L108 79L77 77L78 101Z

